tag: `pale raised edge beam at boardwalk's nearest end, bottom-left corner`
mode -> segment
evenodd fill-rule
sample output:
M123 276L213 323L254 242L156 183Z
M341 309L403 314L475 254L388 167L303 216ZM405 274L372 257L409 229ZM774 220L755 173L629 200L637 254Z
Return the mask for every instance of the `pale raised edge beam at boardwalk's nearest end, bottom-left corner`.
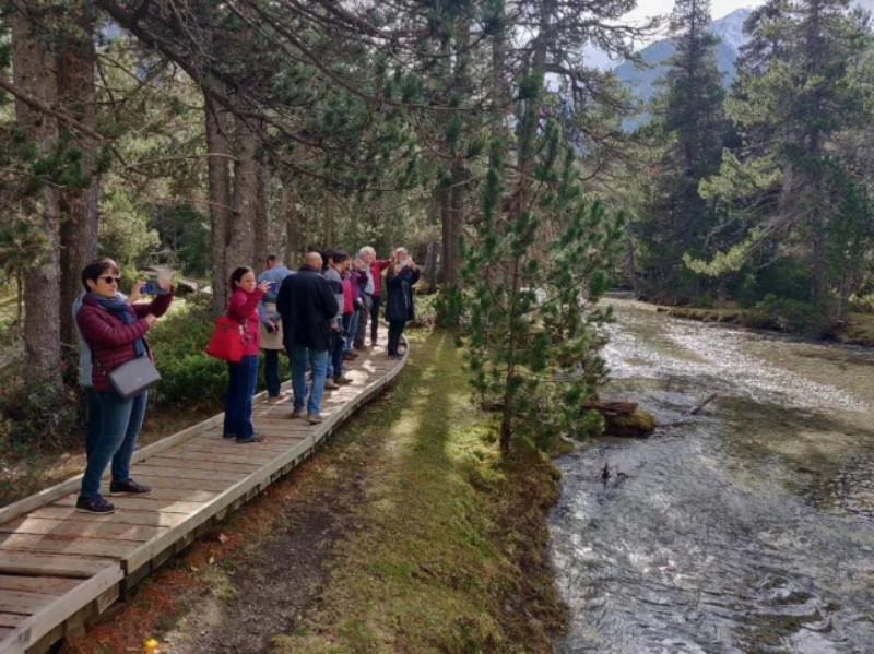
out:
M12 633L7 634L0 641L0 654L20 654L26 651L27 647L78 614L106 591L117 586L121 579L121 568L118 564L105 564L102 570L95 571L91 579L76 584L75 587L21 621Z

